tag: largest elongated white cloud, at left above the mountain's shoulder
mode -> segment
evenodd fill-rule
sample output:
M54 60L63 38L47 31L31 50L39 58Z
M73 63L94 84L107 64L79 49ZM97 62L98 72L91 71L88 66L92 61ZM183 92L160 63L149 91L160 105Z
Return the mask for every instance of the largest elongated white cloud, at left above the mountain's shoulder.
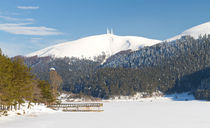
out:
M54 28L48 28L45 26L40 27L31 27L27 26L29 23L20 23L20 24L0 24L0 30L19 35L39 35L39 36L47 36L47 35L59 35L62 34L58 32Z

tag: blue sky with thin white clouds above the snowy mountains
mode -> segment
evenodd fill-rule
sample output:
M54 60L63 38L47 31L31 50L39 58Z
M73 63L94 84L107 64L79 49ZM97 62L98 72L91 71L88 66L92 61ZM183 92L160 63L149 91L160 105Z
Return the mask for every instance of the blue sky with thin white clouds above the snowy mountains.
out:
M9 56L104 34L164 40L210 21L210 0L0 0L0 48Z

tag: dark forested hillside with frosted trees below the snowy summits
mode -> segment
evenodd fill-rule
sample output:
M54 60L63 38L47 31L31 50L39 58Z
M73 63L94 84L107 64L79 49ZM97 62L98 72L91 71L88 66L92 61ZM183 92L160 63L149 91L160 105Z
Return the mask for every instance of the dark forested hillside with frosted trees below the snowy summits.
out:
M185 36L135 52L120 52L103 65L101 62L25 58L41 79L49 80L49 69L55 68L63 79L62 89L73 93L109 98L136 92L192 92L199 99L210 99L210 36Z

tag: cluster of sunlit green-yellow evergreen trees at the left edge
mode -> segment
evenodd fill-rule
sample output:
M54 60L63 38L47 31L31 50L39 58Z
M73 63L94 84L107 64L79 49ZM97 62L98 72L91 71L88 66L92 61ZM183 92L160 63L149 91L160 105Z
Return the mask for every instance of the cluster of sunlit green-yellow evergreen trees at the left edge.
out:
M13 59L0 50L0 105L8 110L25 103L51 103L55 100L49 83L35 79L20 57Z

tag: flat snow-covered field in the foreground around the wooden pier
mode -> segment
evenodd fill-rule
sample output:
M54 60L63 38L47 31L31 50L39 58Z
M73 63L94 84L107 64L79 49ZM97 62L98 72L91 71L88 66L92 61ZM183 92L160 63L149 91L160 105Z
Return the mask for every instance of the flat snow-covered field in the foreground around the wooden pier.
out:
M31 113L0 117L0 128L209 128L210 102L182 98L104 101L104 112ZM173 99L173 100L172 100Z

